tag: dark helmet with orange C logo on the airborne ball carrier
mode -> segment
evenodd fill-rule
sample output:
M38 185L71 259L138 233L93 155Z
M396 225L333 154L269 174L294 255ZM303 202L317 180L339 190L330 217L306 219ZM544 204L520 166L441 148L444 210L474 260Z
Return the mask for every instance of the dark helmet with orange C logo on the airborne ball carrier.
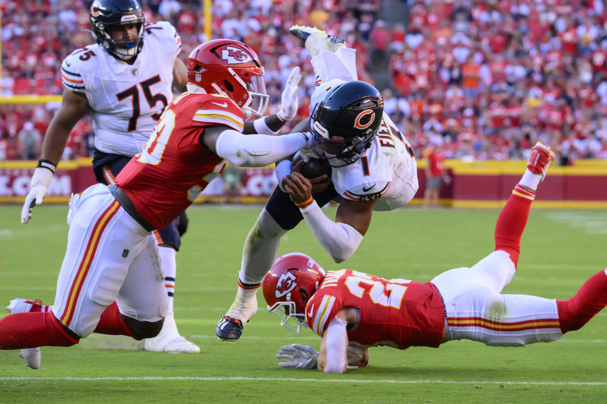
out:
M381 94L370 84L351 81L331 88L310 115L314 153L331 167L352 164L370 147L383 113Z

